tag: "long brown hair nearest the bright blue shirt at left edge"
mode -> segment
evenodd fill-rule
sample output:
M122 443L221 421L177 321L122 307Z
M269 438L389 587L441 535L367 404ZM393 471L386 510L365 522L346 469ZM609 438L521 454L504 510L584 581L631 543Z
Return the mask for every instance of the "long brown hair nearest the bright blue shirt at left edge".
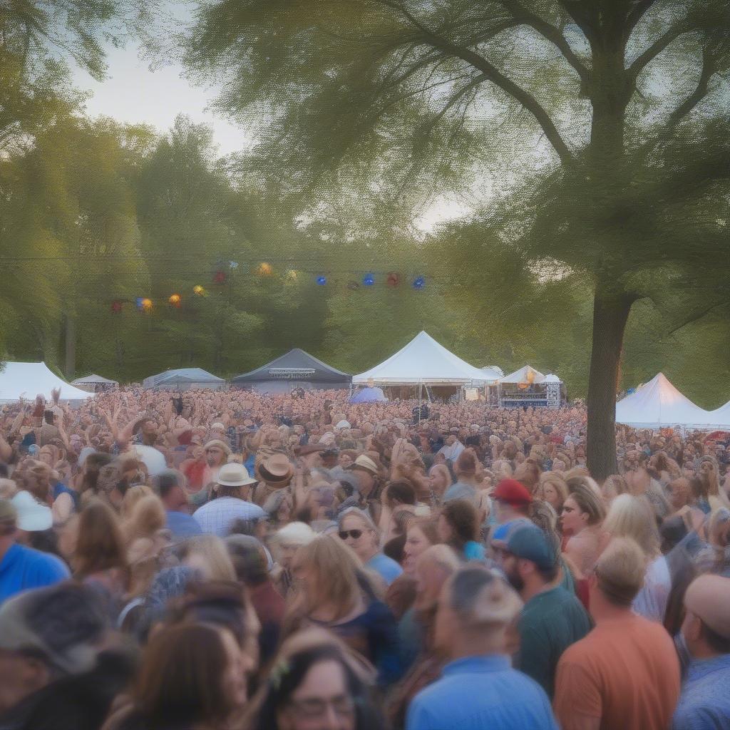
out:
M78 539L72 558L74 575L85 578L111 568L127 572L124 537L114 510L92 499L80 512Z

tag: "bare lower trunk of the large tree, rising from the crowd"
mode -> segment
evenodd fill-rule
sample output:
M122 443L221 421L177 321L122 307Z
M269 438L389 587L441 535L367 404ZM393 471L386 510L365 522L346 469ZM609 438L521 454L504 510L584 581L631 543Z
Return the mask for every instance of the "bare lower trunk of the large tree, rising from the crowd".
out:
M596 283L593 296L593 347L588 375L588 441L585 458L591 476L604 480L616 464L616 391L623 331L634 296L610 282Z

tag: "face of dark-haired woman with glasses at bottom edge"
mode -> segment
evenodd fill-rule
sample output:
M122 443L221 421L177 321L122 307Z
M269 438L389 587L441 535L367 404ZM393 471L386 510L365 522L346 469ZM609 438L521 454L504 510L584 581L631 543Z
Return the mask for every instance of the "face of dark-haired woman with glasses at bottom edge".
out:
M311 666L277 720L281 730L355 730L355 704L339 662Z

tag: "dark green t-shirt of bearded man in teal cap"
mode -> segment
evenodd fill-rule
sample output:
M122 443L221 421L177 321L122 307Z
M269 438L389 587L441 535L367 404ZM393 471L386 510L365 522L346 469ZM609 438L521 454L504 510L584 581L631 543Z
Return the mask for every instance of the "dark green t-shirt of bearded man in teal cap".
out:
M558 659L591 631L591 618L575 594L558 585L529 599L518 626L516 668L542 685L552 699Z

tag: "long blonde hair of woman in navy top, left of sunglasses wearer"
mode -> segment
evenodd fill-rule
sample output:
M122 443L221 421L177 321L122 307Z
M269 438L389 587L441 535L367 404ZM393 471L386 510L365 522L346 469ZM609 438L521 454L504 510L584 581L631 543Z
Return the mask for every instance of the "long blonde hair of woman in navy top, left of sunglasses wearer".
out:
M318 535L296 556L298 564L308 564L318 575L320 604L332 604L342 618L356 606L361 595L358 575L364 575L360 558L334 535ZM311 607L310 607L311 608Z

